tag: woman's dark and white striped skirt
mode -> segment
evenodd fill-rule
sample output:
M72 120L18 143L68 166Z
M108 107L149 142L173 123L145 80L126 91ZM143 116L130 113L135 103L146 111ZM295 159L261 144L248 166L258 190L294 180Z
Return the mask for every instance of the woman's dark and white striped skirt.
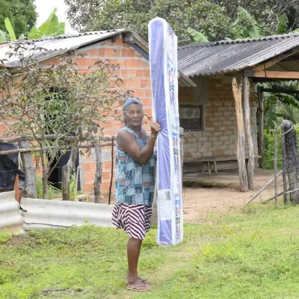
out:
M151 216L151 205L121 203L114 206L112 223L117 229L124 229L130 238L144 240Z

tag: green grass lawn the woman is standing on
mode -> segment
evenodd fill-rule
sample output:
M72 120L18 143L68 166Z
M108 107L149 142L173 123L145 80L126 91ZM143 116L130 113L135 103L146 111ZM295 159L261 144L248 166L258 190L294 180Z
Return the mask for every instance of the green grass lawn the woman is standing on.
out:
M253 205L187 224L184 242L143 244L150 293L125 288L122 231L85 226L11 236L0 232L1 299L299 298L299 207Z

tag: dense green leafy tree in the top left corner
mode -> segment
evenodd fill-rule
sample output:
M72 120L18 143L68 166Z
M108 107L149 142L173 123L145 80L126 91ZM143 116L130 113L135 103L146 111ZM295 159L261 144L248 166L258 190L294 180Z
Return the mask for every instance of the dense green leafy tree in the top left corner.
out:
M27 35L37 19L34 0L0 0L0 30L4 31L4 20L8 18L16 36Z

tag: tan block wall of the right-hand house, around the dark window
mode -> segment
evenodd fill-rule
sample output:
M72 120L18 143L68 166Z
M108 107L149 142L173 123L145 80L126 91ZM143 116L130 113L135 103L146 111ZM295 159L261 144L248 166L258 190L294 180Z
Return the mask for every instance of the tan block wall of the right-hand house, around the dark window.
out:
M211 77L196 89L201 89L204 94L208 95L206 101L201 100L204 107L204 129L190 132L185 136L185 160L212 155L236 154L238 130L231 77ZM188 92L188 89L185 88L179 93L180 103L198 104L192 94L188 96ZM255 103L255 92L252 87L250 96L251 134L257 153Z

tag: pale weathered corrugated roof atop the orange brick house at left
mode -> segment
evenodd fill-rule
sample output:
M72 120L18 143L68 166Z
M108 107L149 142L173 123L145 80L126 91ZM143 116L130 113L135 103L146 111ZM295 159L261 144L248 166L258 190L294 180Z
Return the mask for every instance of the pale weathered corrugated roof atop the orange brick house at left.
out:
M90 43L103 40L105 38L109 38L118 33L122 33L125 31L130 31L128 29L114 29L114 30L105 30L105 31L94 31L94 32L86 32L86 33L78 33L78 34L66 34L59 35L54 37L44 37L35 40L17 40L14 42L3 43L0 44L0 60L4 60L3 63L8 67L17 67L20 66L20 62L17 56L12 55L9 57L7 55L8 52L11 52L11 46L17 43L26 44L27 50L24 51L24 56L26 54L32 54L32 48L40 47L41 51L36 52L34 54L34 58L37 61L45 60L59 54L65 53L72 49L77 49L84 45L88 45ZM27 53L26 53L27 52Z

